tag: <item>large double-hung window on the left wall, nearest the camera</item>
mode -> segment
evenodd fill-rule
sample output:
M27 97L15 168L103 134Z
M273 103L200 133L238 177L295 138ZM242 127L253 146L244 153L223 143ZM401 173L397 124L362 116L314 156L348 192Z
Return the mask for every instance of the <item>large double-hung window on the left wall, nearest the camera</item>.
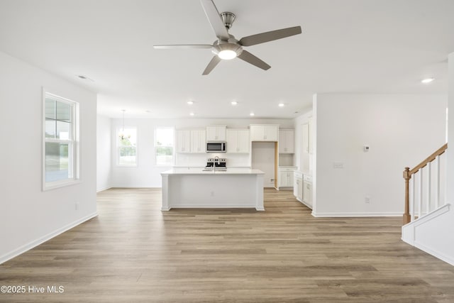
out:
M43 189L78 179L77 102L44 92Z

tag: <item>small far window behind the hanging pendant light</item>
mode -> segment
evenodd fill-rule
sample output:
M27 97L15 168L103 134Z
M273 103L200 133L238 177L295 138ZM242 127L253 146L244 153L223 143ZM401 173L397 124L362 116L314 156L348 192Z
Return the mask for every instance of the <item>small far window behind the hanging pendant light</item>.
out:
M118 166L137 166L137 129L118 128L116 135L116 164Z

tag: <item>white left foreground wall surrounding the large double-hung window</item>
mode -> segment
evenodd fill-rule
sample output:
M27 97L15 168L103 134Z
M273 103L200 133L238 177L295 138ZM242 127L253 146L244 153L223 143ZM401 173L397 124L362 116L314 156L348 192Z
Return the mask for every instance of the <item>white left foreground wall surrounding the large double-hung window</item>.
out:
M96 94L0 52L0 263L96 215ZM79 184L42 191L42 89L79 102ZM79 209L75 209L75 203Z

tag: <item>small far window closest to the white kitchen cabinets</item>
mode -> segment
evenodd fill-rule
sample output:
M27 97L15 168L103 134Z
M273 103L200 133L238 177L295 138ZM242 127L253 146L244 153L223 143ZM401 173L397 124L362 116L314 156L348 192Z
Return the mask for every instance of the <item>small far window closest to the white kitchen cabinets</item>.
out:
M155 164L158 166L173 165L173 128L156 128L155 131Z

